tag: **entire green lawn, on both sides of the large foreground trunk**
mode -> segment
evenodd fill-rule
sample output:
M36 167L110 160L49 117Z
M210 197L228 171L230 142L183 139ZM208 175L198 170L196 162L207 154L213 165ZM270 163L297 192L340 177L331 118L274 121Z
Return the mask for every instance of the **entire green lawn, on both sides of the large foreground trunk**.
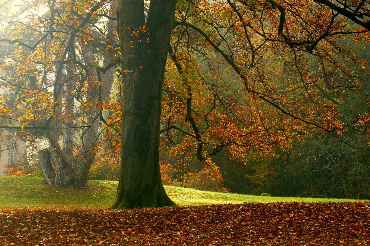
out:
M118 182L90 180L82 190L48 186L40 177L0 176L0 208L107 208L115 197ZM179 206L228 204L242 202L355 202L350 199L299 197L260 197L233 193L218 193L165 186L169 197Z

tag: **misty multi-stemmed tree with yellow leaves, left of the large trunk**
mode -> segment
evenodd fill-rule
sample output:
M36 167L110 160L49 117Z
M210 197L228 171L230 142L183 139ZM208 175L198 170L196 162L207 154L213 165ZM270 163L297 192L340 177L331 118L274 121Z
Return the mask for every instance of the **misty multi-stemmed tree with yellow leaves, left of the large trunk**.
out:
M15 31L1 39L14 48L1 64L8 72L4 83L11 98L9 114L3 115L9 122L2 127L19 129L31 142L41 138L49 143L50 148L38 152L48 184L87 185L117 54L117 1L107 3L26 2L29 17L10 20L8 28ZM32 6L48 10L32 15ZM104 69L95 64L99 62Z

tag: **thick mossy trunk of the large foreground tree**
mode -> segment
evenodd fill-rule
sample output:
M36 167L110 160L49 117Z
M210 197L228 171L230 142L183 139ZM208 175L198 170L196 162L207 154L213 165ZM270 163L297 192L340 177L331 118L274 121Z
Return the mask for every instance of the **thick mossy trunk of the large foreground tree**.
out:
M145 24L143 0L119 1L118 35L125 90L121 176L113 209L175 205L165 193L159 169L162 84L175 3L152 0ZM144 25L148 28L145 32Z

